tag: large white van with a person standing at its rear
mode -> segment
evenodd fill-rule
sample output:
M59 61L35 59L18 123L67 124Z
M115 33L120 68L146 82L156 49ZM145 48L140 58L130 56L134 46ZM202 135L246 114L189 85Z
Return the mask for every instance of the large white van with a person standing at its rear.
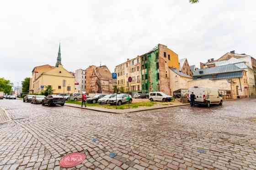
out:
M217 88L205 88L205 87L192 87L188 89L188 100L190 101L190 94L194 93L196 96L195 104L207 105L211 104L222 105L223 99Z

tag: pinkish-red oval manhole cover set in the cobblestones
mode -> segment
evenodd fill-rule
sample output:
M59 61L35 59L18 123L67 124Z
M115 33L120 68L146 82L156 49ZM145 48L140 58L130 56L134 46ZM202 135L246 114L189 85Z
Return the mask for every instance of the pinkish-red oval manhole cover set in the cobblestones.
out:
M85 158L86 158L85 154L81 154L81 153L69 154L69 155L64 156L60 160L59 165L63 168L72 168L72 167L82 163L83 160L85 160Z

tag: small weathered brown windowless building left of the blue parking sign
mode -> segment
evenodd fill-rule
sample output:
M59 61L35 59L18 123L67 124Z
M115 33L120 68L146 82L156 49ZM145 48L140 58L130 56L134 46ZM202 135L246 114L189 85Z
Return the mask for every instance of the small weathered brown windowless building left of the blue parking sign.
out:
M112 73L107 66L89 66L85 69L86 93L113 93Z

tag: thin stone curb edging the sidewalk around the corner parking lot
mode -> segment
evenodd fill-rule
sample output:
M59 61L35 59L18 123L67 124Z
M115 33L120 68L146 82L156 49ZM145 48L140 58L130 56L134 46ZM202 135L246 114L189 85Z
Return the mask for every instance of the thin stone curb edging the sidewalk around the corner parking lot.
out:
M162 108L172 108L172 107L180 107L180 106L187 106L190 105L190 103L187 104L182 104L182 105L176 105L176 106L165 106ZM72 108L81 108L80 106L71 106L71 105L64 105L64 106L68 106L68 107L72 107ZM134 110L134 111L129 111L126 113L136 113L136 112L143 112L143 111L149 111L149 110L157 110L157 109L162 109L162 108L146 108L146 109L142 109L142 110ZM103 113L114 113L114 114L126 114L126 113L118 113L118 112L111 112L111 111L105 111L105 110L97 110L94 108L81 108L81 109L87 109L87 110L93 110L93 111L97 111L97 112L103 112Z

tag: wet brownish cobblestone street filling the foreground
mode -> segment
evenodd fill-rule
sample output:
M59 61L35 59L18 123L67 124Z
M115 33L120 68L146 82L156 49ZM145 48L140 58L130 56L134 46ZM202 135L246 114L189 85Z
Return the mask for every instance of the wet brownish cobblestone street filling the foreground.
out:
M69 170L256 170L255 103L111 114L2 100L0 170L59 170L73 152L87 157Z

